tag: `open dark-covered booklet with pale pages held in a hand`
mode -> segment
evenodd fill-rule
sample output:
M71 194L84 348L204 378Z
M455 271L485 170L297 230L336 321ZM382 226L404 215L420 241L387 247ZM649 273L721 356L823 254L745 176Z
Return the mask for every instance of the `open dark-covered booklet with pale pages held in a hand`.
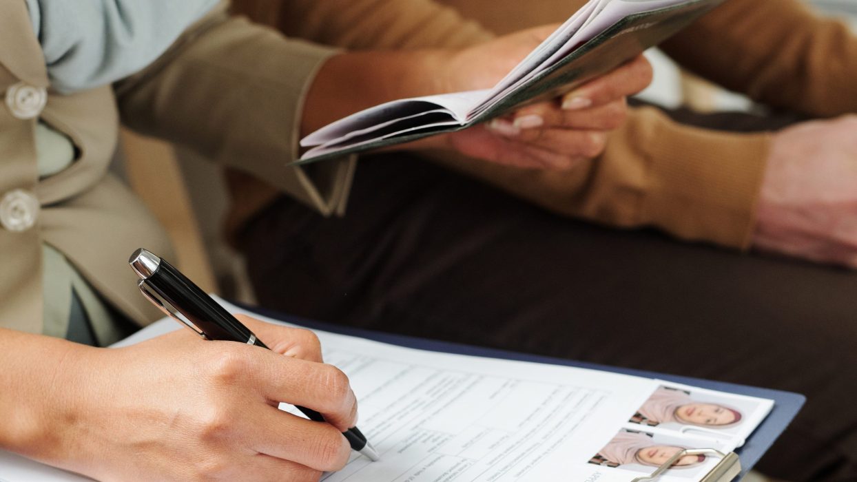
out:
M407 98L309 134L296 164L410 142L554 98L637 57L724 0L590 0L493 88Z

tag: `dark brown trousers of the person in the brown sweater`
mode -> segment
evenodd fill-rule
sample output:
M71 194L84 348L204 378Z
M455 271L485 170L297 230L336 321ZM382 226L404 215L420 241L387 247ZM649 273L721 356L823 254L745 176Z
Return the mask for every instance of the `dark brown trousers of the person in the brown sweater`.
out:
M790 122L674 115L747 130ZM401 155L361 161L346 217L283 198L242 240L262 306L803 393L758 468L857 480L853 272L578 223Z

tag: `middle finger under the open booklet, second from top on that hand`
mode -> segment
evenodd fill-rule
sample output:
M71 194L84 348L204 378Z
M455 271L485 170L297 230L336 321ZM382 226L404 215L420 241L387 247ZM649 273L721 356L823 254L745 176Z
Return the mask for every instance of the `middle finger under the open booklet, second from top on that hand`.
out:
M556 103L542 102L518 110L512 124L521 131L537 128L613 130L622 126L627 113L624 97L585 110L563 110Z

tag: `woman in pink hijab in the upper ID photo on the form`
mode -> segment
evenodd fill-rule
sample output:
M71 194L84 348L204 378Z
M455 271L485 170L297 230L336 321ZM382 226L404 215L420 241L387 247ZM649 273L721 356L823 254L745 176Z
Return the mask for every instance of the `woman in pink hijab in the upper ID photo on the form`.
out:
M690 392L659 387L650 396L631 422L656 426L666 423L698 425L708 428L728 428L740 424L744 415L722 403L700 402Z

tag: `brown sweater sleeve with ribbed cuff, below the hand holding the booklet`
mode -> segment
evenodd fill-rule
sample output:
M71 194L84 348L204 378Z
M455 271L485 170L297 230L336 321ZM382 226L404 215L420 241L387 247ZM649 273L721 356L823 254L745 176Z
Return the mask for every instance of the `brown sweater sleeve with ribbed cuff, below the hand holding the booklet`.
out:
M561 172L432 157L550 211L620 228L655 227L686 241L749 247L768 134L678 124L632 110L602 158Z

